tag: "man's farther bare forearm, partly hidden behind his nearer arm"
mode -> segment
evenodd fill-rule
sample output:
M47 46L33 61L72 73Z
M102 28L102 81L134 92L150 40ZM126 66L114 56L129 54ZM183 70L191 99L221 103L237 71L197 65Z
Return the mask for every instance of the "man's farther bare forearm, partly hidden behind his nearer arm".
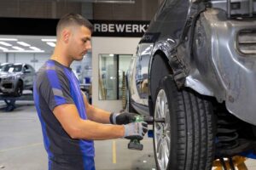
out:
M101 122L101 123L110 123L109 122L109 111L103 111L102 109L96 108L93 105L90 105L87 101L85 94L82 92L84 96L84 105L86 109L86 114L90 121Z

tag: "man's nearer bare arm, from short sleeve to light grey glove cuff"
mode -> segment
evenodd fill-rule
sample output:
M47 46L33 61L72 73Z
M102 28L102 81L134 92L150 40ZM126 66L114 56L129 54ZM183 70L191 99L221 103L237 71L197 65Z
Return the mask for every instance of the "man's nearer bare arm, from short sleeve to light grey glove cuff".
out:
M53 112L72 139L116 139L125 135L124 126L106 125L81 119L79 111L73 104L58 105ZM105 115L107 113L100 114Z

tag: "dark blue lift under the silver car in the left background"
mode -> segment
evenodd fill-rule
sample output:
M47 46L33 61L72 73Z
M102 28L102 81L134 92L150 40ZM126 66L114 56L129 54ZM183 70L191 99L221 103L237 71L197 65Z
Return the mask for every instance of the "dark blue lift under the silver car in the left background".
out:
M17 100L32 101L33 96L32 94L23 94L20 97L12 97L12 96L5 96L0 94L0 100L3 100L6 104L5 111L14 111L16 108L15 102Z

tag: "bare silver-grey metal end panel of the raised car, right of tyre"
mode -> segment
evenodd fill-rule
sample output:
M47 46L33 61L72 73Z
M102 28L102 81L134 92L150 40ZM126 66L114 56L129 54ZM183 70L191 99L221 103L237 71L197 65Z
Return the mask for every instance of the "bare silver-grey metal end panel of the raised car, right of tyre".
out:
M232 114L256 125L256 106L253 105L256 100L256 95L253 94L256 84L256 55L253 54L253 47L251 50L250 47L248 50L244 49L243 52L239 47L242 45L239 42L241 32L247 32L248 35L251 33L253 36L256 21L228 20L224 12L218 9L208 9L201 14L200 20L204 31L211 36L204 35L207 37L205 40L200 39L200 36L195 39L195 65L190 65L185 86L200 94L214 96L219 102L225 101ZM247 43L246 38L242 41ZM206 52L201 48L211 50Z

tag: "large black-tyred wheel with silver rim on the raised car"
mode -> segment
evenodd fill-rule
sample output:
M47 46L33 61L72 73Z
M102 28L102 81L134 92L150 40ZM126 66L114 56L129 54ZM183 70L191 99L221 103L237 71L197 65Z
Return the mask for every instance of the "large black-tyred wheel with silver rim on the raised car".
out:
M160 170L210 170L213 161L212 105L192 90L179 91L172 76L156 90L154 157Z

